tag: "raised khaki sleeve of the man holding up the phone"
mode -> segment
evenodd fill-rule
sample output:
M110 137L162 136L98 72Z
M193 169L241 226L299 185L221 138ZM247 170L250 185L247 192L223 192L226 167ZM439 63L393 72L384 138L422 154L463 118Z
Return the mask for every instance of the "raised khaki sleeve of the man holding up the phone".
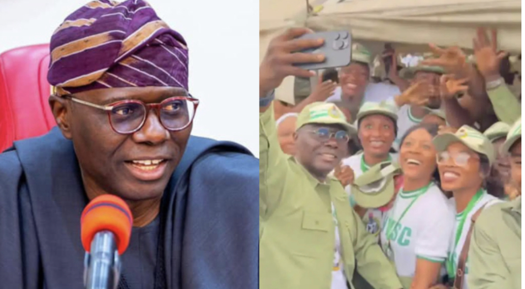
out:
M288 160L277 139L274 105L259 115L259 216L277 207L289 171Z

